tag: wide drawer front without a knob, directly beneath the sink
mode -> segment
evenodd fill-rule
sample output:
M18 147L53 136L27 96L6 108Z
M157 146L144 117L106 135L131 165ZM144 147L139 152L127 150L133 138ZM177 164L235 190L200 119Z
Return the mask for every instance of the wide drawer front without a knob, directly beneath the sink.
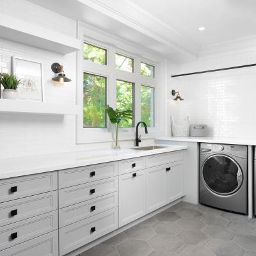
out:
M146 167L154 167L161 164L173 163L176 161L182 161L183 152L168 152L162 154L156 154L146 157Z

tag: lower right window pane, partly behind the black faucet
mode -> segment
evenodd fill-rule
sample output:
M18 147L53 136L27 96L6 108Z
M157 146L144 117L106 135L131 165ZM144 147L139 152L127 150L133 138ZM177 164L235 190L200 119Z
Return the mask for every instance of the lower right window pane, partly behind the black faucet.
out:
M141 120L148 127L155 126L154 94L154 88L141 85Z

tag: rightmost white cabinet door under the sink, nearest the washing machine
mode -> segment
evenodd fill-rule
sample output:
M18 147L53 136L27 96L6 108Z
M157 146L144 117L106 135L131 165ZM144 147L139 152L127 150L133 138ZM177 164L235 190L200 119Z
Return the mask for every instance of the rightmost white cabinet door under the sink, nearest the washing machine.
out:
M182 162L170 164L170 170L166 171L166 204L183 196L183 170Z

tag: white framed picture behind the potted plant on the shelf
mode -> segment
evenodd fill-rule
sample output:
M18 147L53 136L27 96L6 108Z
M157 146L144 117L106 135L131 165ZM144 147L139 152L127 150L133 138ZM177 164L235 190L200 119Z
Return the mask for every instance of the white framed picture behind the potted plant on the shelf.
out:
M17 88L18 99L44 102L43 64L13 56L12 72L22 79Z

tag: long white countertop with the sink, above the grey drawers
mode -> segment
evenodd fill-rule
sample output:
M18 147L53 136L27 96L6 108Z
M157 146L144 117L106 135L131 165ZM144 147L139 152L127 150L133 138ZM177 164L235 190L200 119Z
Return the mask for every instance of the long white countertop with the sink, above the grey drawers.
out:
M157 144L159 145L159 144ZM42 156L0 159L0 179L35 173L52 172L90 164L106 163L133 157L150 156L164 152L184 150L186 146L163 145L154 150L134 150L129 148L91 150L88 152L68 152Z

